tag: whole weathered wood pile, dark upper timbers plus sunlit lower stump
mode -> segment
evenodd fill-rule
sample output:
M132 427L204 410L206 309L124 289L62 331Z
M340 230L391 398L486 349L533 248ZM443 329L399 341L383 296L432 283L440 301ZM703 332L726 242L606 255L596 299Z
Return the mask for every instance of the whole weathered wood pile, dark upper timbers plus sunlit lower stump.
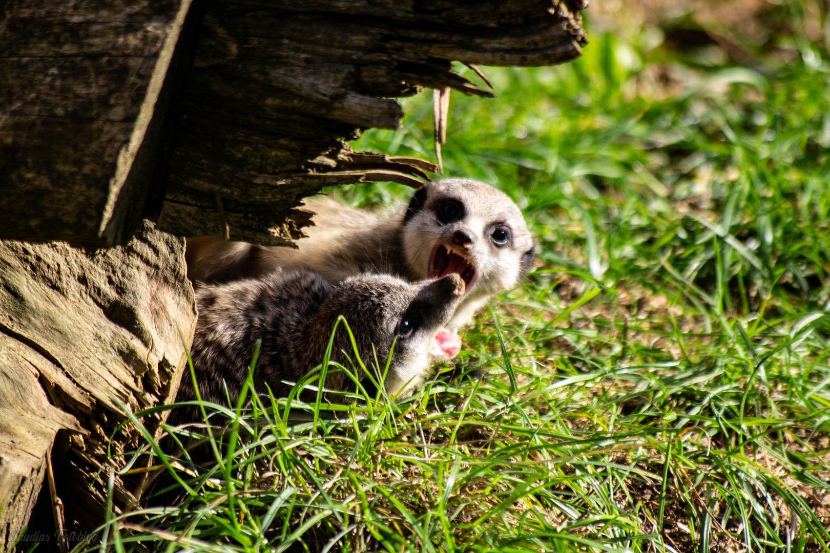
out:
M422 87L490 94L453 61L579 56L585 3L0 3L0 549L53 449L67 515L100 521L106 473L140 442L125 425L110 443L115 399L175 393L196 314L174 235L286 244L320 187L417 185L432 163L347 142L398 128L393 97Z

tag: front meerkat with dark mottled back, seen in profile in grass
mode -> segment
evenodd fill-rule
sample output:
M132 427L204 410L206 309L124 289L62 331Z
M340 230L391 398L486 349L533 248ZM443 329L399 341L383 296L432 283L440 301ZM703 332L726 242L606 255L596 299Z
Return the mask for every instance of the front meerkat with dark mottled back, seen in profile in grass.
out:
M190 350L199 394L222 404L227 389L237 398L261 340L253 373L256 390L265 392L267 385L275 395L286 395L291 390L286 382L300 381L323 360L339 315L349 323L367 367L377 359L383 370L392 352L384 387L390 394L406 394L423 380L433 359L453 357L460 349L460 339L445 326L463 293L457 274L420 283L363 274L332 286L305 269L204 286L196 292L199 315ZM331 360L349 366L347 356L353 352L348 333L339 327ZM364 387L374 389L362 378ZM325 386L355 389L340 371L330 371ZM193 399L192 383L183 382L178 401ZM197 419L195 408L171 413L174 424Z

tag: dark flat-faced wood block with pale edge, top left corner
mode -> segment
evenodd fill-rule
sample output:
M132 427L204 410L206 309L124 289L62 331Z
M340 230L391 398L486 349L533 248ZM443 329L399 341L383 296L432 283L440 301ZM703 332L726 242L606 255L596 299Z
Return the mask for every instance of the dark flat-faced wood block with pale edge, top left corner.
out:
M155 172L195 44L191 2L2 2L0 238L134 235L164 193Z

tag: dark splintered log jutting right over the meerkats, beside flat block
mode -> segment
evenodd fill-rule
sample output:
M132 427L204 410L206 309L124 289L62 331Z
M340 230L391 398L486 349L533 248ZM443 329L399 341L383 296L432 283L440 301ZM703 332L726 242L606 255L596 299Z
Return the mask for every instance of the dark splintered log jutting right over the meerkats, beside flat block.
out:
M549 0L213 2L159 228L282 244L306 220L288 208L321 187L417 185L434 167L378 158L369 170L346 141L363 129L397 129L403 111L390 97L423 86L491 95L457 75L452 61L574 59L585 42L576 15L583 7Z

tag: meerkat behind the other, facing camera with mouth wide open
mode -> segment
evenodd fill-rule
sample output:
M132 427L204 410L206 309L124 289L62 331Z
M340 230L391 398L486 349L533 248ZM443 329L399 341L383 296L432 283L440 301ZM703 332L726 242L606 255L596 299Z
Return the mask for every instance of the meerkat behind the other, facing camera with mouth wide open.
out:
M457 330L491 296L512 289L534 260L519 207L484 182L427 183L386 220L325 197L306 199L306 205L316 213L315 226L297 240L297 249L188 239L188 277L224 282L297 268L314 269L330 283L364 273L412 282L458 274L466 292L447 325Z

